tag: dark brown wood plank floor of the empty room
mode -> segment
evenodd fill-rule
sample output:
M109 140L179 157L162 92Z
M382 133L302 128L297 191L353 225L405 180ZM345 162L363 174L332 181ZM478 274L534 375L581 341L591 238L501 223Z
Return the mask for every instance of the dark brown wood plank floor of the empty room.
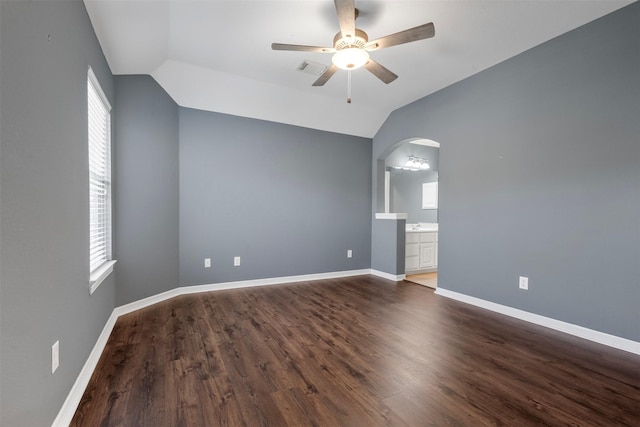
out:
M73 426L640 425L640 356L374 276L121 317Z

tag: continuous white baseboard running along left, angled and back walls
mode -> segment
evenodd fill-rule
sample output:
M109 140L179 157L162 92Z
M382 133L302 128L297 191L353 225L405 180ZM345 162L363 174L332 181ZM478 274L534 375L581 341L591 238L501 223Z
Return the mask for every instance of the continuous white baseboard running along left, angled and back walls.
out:
M91 353L89 354L87 361L82 367L78 378L76 378L73 387L71 387L69 395L65 399L62 408L58 412L58 416L53 421L52 427L67 427L71 423L76 409L80 404L80 400L82 399L82 395L84 394L84 391L89 384L91 375L93 375L93 371L98 365L100 356L102 355L102 352L107 345L109 335L111 335L111 331L113 330L116 321L122 315L140 310L141 308L149 307L153 304L157 304L159 302L177 297L179 295L219 291L224 289L248 288L253 286L308 282L311 280L336 279L340 277L362 276L366 274L372 274L371 270L366 268L362 270L336 271L330 273L305 274L300 276L273 277L267 279L244 280L238 282L214 283L210 285L184 286L116 307L107 320L107 323L104 325L104 328L102 329L102 332L100 333L96 344L93 346L93 350L91 350Z

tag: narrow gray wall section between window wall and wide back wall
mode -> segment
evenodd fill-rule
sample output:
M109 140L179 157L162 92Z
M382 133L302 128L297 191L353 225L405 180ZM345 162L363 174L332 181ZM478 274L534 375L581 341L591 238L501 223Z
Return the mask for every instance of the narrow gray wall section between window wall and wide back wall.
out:
M115 77L116 303L174 289L178 255L178 106L149 76Z

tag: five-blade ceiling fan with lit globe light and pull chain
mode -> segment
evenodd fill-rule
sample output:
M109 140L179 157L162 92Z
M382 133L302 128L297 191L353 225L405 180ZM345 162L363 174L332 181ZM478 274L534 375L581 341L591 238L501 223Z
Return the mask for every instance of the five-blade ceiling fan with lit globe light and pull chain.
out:
M351 70L366 68L374 76L389 84L398 78L389 69L383 67L369 56L369 52L397 46L404 43L428 39L435 35L433 23L419 25L408 30L390 34L379 39L369 41L369 36L363 30L356 28L358 9L355 0L334 0L340 32L333 38L333 47L304 46L297 44L272 43L273 50L290 50L299 52L333 53L331 66L313 83L322 86L338 69L349 71L347 102L351 103Z

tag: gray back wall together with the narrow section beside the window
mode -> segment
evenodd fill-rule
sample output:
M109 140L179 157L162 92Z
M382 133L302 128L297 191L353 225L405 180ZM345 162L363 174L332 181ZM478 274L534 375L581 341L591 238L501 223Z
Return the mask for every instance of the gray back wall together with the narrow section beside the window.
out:
M115 94L118 305L369 268L370 139L178 108L148 76L116 77Z

